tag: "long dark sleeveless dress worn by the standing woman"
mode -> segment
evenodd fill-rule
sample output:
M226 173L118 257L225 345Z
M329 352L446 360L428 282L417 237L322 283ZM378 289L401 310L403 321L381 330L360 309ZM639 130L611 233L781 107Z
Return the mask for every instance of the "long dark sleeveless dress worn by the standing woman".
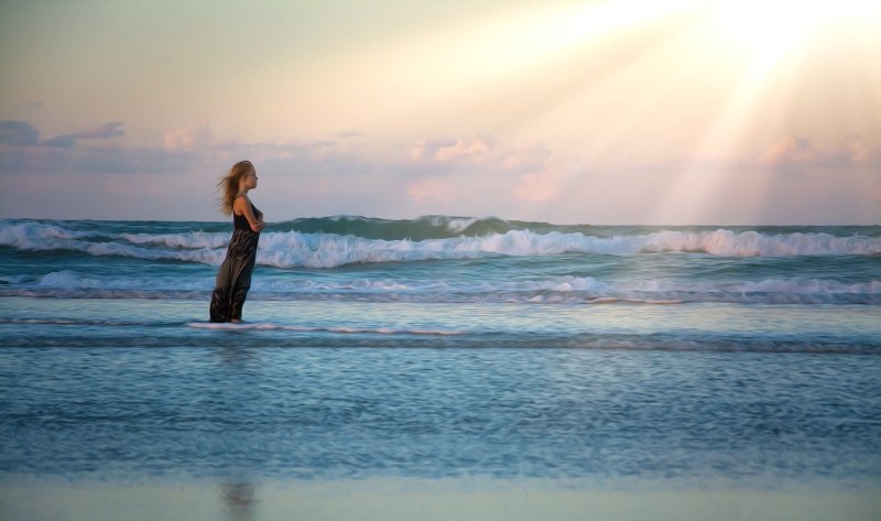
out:
M263 213L251 203L251 211L258 219ZM260 232L251 229L243 215L232 215L232 238L227 248L227 258L217 271L217 282L211 294L209 313L211 322L241 319L241 307L251 289L251 271L257 261L257 242Z

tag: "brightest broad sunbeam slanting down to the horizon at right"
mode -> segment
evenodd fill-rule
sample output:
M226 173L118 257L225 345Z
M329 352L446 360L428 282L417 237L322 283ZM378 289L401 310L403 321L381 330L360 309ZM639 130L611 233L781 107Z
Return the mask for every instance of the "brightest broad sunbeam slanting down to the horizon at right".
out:
M732 214L743 221L758 217L768 197L768 176L744 176L738 163L752 144L747 143L748 138L782 131L781 122L790 110L783 104L792 93L779 82L797 67L805 44L828 14L820 9L824 6L748 0L719 2L707 12L696 46L703 46L707 63L731 59L740 74L703 139L693 146L690 160L659 197L655 220L676 216L674 220L682 224L698 222L718 213L720 206L736 206ZM726 48L728 56L711 55ZM742 192L747 178L750 189ZM732 192L735 187L739 194Z

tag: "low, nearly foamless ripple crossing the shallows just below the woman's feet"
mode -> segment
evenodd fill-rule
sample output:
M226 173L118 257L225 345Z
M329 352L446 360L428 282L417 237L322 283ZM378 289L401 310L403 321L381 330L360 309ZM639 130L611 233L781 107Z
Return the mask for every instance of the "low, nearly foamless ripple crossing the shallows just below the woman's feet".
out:
M28 319L0 324L31 326ZM7 335L0 347L46 348L456 348L456 349L603 349L664 351L751 351L879 354L881 338L795 334L725 334L699 332L628 333L537 333L507 330L424 330L387 327L309 327L291 324L202 322L164 324L116 324L101 321L39 321L51 326L42 334ZM121 326L121 327L117 327ZM131 334L132 326L142 334ZM95 335L100 328L101 335ZM146 334L144 334L146 333Z

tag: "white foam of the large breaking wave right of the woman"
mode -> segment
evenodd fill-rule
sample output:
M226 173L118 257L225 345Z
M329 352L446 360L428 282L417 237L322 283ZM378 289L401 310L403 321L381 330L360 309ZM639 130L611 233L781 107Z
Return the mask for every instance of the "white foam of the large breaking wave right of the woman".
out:
M533 257L563 253L639 254L697 252L718 257L874 256L881 239L834 237L828 234L768 236L754 231L659 231L641 236L600 238L583 234L534 234L511 230L485 237L456 237L422 241L363 239L354 236L267 234L261 237L258 262L278 268L337 268L370 262Z

